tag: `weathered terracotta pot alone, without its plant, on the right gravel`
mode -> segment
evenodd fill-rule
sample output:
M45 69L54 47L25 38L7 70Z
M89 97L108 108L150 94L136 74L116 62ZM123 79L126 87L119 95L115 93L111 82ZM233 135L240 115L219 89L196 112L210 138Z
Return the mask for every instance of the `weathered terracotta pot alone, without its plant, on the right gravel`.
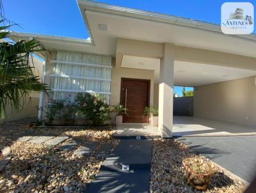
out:
M188 164L186 164L186 162L182 161L182 163L186 170L186 178L188 183L196 190L207 190L213 173L196 174L188 166Z

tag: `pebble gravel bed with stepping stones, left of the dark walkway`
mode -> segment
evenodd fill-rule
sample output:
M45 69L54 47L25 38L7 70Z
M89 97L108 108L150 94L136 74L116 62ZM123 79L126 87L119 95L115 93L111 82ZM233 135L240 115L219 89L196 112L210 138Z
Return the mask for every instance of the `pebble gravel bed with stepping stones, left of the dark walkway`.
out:
M115 148L118 143L113 139L110 130L30 129L39 135L68 135L80 137L83 142L97 141L99 146L111 143ZM8 137L0 137L0 141L7 139ZM72 151L60 151L58 147L61 144L48 147L44 144L32 144L13 139L7 141L11 148L12 159L0 173L0 192L83 192L86 185L99 173L102 163L101 158L94 156L97 148L90 157L84 158L74 154L79 145Z

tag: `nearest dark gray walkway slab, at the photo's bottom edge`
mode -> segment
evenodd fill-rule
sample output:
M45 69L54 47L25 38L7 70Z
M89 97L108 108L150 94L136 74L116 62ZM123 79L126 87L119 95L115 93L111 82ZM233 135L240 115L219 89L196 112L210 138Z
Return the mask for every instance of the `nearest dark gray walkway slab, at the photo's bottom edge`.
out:
M150 170L116 171L111 168L101 168L95 180L85 192L140 192L148 193Z

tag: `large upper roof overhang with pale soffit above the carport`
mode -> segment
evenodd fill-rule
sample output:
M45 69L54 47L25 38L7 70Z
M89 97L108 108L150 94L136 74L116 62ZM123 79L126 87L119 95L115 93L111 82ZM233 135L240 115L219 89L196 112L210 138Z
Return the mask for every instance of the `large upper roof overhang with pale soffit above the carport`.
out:
M95 47L103 47L113 56L116 38L125 38L256 58L254 34L225 35L216 24L95 1L77 0L77 4ZM107 25L109 31L100 30L99 24Z

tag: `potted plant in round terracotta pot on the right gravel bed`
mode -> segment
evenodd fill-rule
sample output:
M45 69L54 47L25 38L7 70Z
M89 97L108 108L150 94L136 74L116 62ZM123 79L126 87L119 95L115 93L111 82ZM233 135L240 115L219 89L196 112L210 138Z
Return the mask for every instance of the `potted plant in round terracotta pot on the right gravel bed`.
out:
M205 191L215 173L215 166L204 157L185 158L182 161L188 183L196 190Z

